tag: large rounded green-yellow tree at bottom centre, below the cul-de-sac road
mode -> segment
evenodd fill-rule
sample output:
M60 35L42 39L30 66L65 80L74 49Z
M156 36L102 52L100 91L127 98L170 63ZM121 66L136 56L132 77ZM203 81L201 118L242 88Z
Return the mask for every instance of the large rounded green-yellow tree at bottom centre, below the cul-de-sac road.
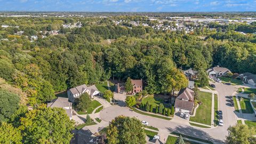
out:
M109 123L107 140L110 144L144 144L146 143L146 134L139 119L118 116Z

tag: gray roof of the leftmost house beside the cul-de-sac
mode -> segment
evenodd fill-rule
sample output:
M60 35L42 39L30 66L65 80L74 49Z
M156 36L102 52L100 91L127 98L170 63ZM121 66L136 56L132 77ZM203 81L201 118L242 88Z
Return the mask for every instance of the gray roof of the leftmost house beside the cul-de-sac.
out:
M63 108L63 107L70 107L72 106L71 102L68 102L68 98L62 98L58 97L57 99L53 99L50 103L47 103L47 107L58 107L58 108Z

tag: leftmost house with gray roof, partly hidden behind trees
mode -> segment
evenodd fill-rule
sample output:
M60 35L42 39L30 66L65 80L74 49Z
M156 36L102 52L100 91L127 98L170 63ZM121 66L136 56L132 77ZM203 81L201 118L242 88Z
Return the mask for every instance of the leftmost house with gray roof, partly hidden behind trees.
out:
M72 119L72 103L68 101L68 98L58 97L53 99L51 102L47 103L47 107L63 108L66 111L69 119Z

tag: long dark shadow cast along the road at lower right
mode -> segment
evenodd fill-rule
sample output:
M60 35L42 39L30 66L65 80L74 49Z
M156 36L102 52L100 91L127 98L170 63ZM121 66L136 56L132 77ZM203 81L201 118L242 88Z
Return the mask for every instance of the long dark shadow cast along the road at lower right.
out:
M208 133L206 133L202 130L195 129L194 127L177 126L177 127L175 127L175 129L171 129L171 128L167 128L167 129L170 131L170 133L176 132L176 133L188 135L190 137L211 141L214 143L223 143L222 140L214 139Z

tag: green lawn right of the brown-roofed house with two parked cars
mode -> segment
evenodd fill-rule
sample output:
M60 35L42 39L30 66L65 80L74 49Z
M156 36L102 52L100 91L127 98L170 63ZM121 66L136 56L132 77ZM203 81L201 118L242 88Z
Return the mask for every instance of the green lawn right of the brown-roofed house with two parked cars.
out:
M199 100L202 104L196 109L196 116L190 117L190 121L211 125L212 93L200 91Z

